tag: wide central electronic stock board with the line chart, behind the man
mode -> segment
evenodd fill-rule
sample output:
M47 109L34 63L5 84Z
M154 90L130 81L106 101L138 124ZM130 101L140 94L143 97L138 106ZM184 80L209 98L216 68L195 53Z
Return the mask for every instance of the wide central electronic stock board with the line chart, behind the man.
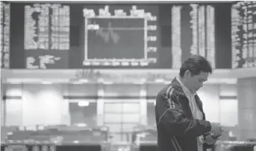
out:
M6 68L231 68L231 3L8 6Z

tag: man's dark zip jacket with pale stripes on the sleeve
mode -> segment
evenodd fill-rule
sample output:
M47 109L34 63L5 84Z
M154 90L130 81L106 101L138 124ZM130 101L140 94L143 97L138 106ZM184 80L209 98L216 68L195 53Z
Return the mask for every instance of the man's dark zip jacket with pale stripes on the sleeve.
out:
M198 95L195 100L203 120L193 119L189 100L176 78L158 92L155 106L158 151L198 151L196 138L209 132L211 126L205 121ZM204 144L204 151L209 147Z

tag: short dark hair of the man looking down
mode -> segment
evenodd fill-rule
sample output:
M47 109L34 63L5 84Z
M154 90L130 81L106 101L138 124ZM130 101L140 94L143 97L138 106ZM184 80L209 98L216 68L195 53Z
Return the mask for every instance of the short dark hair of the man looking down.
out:
M182 63L180 76L184 77L184 73L187 70L189 70L193 76L200 74L201 71L212 73L210 63L200 55L193 55Z

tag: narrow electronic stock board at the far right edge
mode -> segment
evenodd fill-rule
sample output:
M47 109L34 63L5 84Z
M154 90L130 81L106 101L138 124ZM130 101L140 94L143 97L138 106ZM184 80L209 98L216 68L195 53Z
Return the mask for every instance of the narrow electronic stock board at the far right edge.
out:
M231 7L232 68L256 67L256 1Z

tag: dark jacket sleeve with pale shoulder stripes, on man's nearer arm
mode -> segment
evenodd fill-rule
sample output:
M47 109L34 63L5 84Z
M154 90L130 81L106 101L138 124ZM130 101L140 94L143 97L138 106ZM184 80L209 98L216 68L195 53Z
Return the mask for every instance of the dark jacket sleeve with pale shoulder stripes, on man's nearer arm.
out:
M181 104L174 94L157 94L157 126L163 127L172 135L198 137L211 129L210 122L185 117Z

